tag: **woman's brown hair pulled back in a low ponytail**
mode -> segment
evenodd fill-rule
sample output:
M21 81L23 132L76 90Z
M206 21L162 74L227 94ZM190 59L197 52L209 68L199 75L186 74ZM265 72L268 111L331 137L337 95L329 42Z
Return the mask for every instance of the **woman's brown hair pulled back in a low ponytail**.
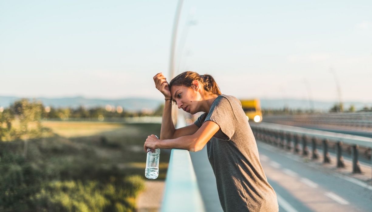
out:
M200 75L192 71L183 72L173 78L169 83L169 90L173 85L191 87L194 80L200 81L205 91L221 95L221 91L219 91L218 85L211 75Z

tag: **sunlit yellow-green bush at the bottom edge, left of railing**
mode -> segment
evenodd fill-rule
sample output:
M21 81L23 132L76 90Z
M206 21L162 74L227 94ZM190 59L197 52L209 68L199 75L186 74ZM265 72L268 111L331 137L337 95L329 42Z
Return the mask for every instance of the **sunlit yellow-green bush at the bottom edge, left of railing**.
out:
M104 185L98 181L55 181L32 197L41 211L134 211L135 196L144 188L139 176Z

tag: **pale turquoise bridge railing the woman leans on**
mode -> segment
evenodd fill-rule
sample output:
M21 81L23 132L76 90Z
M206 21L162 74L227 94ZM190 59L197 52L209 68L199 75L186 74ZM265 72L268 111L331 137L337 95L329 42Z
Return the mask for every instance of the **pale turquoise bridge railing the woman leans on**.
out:
M185 118L179 115L177 128L185 125ZM190 153L187 150L171 150L161 211L205 211Z

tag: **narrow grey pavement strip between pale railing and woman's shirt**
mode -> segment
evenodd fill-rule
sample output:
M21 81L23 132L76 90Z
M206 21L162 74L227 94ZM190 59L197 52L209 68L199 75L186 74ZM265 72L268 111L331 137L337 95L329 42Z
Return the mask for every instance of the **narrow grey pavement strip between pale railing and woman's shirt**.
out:
M207 147L197 152L190 152L192 164L194 166L196 179L202 195L205 210L207 212L222 211L219 203L216 178L207 156Z

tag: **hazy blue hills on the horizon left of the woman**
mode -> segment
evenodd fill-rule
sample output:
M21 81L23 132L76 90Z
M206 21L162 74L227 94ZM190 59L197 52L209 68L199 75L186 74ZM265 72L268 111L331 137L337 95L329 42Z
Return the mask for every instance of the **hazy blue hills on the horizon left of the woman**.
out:
M20 97L1 97L0 106L8 107L10 104L19 100ZM32 98L29 98L32 100ZM40 100L45 106L52 107L73 107L84 106L86 108L105 107L106 105L122 106L126 111L140 111L142 109L155 110L163 101L148 98L123 98L123 99L89 99L84 97L67 98L35 98Z

